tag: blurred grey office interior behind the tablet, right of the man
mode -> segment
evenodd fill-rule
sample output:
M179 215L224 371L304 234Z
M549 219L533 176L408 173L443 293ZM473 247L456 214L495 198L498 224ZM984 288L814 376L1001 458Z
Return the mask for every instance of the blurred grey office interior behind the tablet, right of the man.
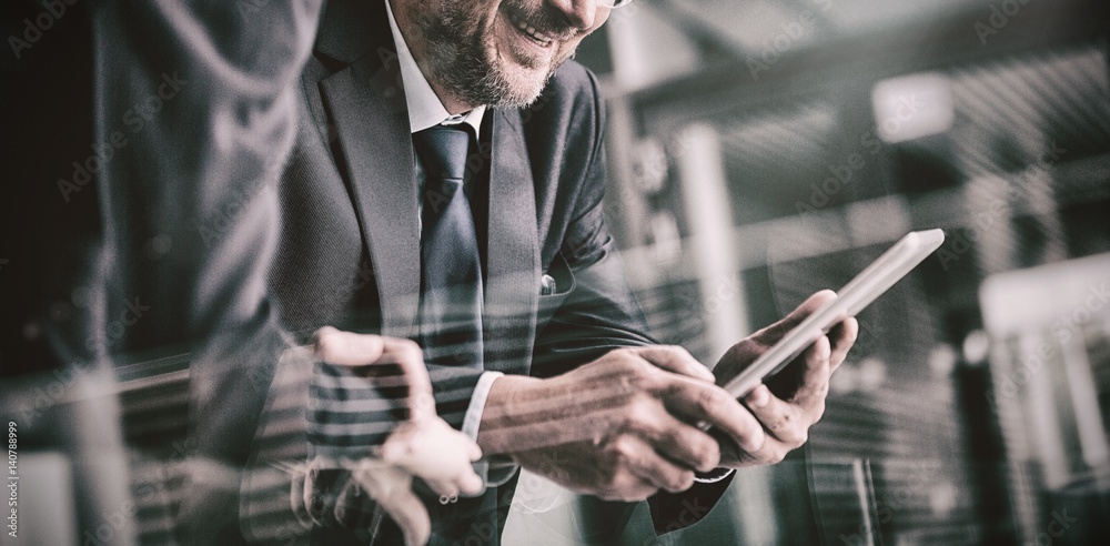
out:
M1102 544L1107 13L1040 0L613 12L579 60L608 94L610 225L663 341L715 362L906 232L948 235L859 317L804 453L740 473L692 529L657 540L640 510L616 542Z

